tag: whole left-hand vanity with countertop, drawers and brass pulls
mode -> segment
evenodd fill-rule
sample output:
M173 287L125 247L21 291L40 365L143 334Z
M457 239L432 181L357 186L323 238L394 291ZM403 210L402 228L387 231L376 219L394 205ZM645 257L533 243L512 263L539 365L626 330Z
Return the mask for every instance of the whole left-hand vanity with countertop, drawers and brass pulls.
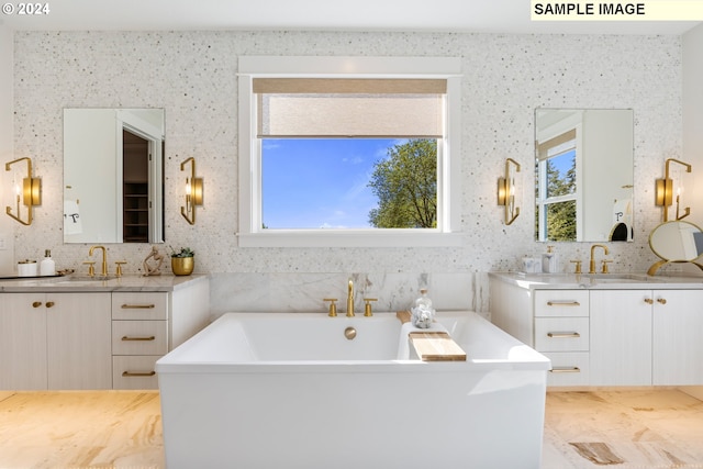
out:
M204 276L47 283L0 282L1 390L156 389L156 360L210 321Z

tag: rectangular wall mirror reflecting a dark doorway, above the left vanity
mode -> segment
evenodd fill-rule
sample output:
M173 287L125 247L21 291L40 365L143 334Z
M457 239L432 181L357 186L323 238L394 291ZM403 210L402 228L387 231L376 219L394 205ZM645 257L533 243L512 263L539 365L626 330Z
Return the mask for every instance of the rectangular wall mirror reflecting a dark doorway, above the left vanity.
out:
M164 243L163 109L64 110L64 243Z

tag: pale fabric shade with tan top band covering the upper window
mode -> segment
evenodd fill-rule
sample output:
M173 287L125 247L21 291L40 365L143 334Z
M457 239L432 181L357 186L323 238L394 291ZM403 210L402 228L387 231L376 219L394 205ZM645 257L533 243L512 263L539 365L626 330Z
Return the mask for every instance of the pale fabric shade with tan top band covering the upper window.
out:
M259 137L427 137L444 134L446 80L254 80Z

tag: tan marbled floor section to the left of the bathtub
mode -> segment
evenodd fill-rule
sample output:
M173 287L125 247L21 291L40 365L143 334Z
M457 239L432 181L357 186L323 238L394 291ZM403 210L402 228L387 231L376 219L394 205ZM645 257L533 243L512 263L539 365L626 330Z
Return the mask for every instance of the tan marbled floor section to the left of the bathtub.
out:
M0 391L0 468L164 468L157 391Z

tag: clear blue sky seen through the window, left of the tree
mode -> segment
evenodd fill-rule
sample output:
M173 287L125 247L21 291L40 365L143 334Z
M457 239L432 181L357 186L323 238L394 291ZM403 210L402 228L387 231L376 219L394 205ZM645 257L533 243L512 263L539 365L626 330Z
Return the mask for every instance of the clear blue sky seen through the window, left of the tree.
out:
M263 222L269 228L364 228L377 199L367 187L389 138L268 138L261 150Z

